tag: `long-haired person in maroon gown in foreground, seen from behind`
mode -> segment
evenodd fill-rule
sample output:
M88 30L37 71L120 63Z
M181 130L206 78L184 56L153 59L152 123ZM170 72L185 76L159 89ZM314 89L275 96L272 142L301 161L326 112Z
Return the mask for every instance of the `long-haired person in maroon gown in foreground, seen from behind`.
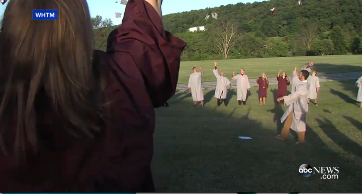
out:
M186 46L164 30L161 3L128 1L107 52L93 52L86 0L9 1L0 31L2 192L155 191L154 109L175 93ZM33 21L36 9L56 9L58 20Z

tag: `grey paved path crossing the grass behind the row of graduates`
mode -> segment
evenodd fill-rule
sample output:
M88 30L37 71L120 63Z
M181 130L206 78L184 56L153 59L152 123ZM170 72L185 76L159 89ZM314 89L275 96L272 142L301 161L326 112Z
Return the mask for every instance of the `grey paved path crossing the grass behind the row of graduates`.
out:
M362 76L362 71L358 72L347 72L347 73L327 73L327 74L319 74L319 81L335 81L335 80L347 80L347 79L358 79L358 77ZM215 78L216 79L216 78ZM289 80L292 82L292 77L289 77ZM230 80L231 85L235 88L236 81ZM256 79L249 79L250 86L257 85ZM269 84L277 84L277 77L270 77L269 78ZM203 89L215 89L216 87L216 81L210 81L210 82L203 82L202 83ZM176 87L176 93L177 92L183 92L188 90L188 84L187 83L179 83Z

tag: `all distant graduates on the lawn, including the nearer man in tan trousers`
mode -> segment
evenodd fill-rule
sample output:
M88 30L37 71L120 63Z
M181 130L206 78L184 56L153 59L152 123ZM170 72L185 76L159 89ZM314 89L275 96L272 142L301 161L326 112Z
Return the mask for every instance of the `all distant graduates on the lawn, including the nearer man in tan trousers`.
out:
M319 78L317 72L311 70L314 66L313 62L307 63L303 66L300 72L295 67L292 76L292 90L291 94L288 95L288 85L291 81L289 80L286 72L280 70L277 75L278 80L278 91L277 101L283 103L286 107L286 111L281 118L281 123L284 123L284 127L277 139L284 140L288 137L290 130L292 129L298 136L296 144L302 144L305 138L306 131L306 115L308 113L308 106L311 100L314 100L314 105L317 105L317 96L320 90ZM201 86L201 77L204 71L199 67L200 72L197 68L193 68L193 73L189 79L189 90L192 93L194 106L197 106L197 102L201 102L201 106L204 106L204 95ZM225 77L225 72L219 74L217 69L217 62L214 62L215 77L217 79L215 98L217 99L217 105L220 106L224 102L227 106L227 89L231 87L231 83L228 78ZM311 73L311 75L310 75ZM239 105L246 105L247 93L250 90L250 83L248 76L245 75L245 69L241 69L240 74L232 73L232 79L236 80L237 87L237 101ZM260 77L256 79L258 84L258 97L260 106L265 105L265 99L267 96L267 89L269 86L268 78L265 73L262 73ZM361 102L362 108L362 76L355 82L358 87L357 101Z

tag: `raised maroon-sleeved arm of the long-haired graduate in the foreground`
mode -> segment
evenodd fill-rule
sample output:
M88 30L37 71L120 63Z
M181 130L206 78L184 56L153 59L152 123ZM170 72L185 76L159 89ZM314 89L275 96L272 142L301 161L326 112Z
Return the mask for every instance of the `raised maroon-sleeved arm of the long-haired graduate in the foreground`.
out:
M175 93L180 55L186 46L163 29L160 6L161 0L128 1L122 26L110 33L107 42L116 76L138 87L143 84L155 108Z

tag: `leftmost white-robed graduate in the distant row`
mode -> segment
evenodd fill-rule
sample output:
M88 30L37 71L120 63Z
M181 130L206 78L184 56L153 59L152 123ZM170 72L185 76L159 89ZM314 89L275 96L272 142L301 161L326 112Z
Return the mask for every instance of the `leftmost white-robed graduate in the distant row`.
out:
M194 106L197 105L198 102L201 103L201 106L204 106L204 93L202 91L201 85L201 77L204 75L204 71L201 67L199 67L200 72L197 71L196 67L193 67L193 73L189 78L189 91L193 96Z

